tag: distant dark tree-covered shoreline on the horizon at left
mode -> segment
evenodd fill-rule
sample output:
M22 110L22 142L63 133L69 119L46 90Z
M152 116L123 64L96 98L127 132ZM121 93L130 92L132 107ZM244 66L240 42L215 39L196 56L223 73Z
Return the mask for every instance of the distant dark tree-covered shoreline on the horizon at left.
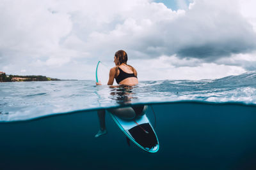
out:
M47 76L19 76L12 74L5 74L0 72L0 82L13 82L13 81L61 81L58 78L50 78Z

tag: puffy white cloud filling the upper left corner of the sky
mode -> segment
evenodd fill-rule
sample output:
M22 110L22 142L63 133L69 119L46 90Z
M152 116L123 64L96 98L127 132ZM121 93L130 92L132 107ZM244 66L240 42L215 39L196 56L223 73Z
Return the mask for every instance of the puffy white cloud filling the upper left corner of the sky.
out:
M34 54L47 53L72 30L67 13L52 13L51 3L4 1L1 3L1 48Z

